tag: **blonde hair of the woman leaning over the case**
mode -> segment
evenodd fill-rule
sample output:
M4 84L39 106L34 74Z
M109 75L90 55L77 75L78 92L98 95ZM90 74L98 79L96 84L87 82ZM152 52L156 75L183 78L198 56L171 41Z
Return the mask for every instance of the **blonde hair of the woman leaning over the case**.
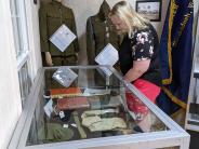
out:
M127 1L116 3L110 11L111 15L117 15L125 22L129 28L129 36L133 30L147 28L147 24L149 24L149 21L136 13Z

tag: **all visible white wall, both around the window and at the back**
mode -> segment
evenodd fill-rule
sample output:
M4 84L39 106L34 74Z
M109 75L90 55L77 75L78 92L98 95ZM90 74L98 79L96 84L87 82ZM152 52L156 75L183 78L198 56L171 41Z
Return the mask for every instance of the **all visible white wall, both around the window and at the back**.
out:
M39 0L38 0L39 1ZM81 1L81 3L80 3ZM63 2L70 6L76 16L78 35L80 37L82 63L85 64L85 22L91 15L94 15L98 11L103 0L64 0ZM110 6L119 0L107 0ZM132 3L135 0L131 0ZM198 0L195 1L195 18L198 12ZM17 68L15 50L13 44L12 24L10 14L10 1L0 1L0 149L6 148L9 140L12 136L12 132L22 112L19 89L17 82ZM165 10L169 0L162 0L162 21L165 16ZM89 4L90 3L90 4ZM89 6L87 6L89 5ZM38 23L38 8L39 4L32 4L32 1L27 2L27 10L29 13L28 27L30 36L30 50L32 52L31 63L34 65L32 72L35 76L38 68L41 67L40 57L40 42L39 42L39 23ZM154 24L161 33L162 23ZM82 38L83 37L83 38Z

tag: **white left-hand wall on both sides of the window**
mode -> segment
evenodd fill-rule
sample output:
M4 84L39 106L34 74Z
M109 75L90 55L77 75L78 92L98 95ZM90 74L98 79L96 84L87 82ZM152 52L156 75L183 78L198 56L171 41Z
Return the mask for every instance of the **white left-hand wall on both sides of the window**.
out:
M32 65L31 77L35 78L37 70L41 67L39 5L32 4L32 1L27 2L26 5ZM0 1L0 149L5 149L22 112L10 1Z

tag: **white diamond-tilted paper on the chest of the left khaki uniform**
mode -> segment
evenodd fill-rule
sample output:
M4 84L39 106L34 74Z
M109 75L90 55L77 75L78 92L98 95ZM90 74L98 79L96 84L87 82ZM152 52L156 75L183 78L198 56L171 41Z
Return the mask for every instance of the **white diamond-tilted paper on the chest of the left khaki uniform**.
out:
M76 39L66 25L62 25L50 38L50 41L62 52Z

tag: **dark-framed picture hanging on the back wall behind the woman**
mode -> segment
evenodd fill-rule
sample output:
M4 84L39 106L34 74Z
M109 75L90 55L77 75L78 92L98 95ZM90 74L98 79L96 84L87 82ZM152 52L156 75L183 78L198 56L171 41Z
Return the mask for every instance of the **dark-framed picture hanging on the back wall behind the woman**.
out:
M135 10L151 22L161 21L161 0L136 1Z

